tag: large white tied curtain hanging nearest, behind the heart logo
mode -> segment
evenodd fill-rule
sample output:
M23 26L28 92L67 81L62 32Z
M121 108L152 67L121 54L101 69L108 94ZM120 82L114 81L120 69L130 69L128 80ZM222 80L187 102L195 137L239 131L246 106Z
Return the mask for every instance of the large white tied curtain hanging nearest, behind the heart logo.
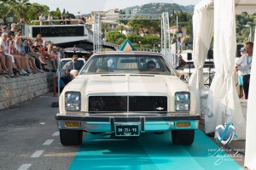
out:
M236 127L237 139L245 139L245 120L233 78L236 59L235 0L214 1L214 23L216 74L208 95L210 111L205 118L206 133L214 132L220 124L232 122Z

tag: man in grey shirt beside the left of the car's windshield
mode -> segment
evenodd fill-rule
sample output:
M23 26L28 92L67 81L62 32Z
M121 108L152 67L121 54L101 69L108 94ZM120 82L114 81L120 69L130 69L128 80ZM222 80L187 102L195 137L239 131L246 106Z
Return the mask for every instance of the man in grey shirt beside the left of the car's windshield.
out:
M65 83L71 82L74 78L72 74L70 74L72 70L79 70L81 66L78 64L79 57L77 55L73 55L72 60L67 62L62 70L61 70L61 80Z

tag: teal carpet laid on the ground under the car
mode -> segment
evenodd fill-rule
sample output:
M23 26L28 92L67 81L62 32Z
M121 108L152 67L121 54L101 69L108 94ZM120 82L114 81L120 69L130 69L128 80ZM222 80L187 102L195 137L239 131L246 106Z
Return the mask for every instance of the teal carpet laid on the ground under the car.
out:
M219 150L219 151L218 151ZM171 133L116 138L87 134L70 170L242 169L201 130L190 146L172 144Z

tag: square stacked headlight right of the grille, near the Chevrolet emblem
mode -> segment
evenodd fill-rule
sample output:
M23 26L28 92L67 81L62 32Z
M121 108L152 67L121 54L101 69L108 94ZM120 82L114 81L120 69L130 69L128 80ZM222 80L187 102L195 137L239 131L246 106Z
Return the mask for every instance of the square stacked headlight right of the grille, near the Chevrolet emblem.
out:
M189 92L177 92L175 94L175 110L189 111L190 109L190 94Z

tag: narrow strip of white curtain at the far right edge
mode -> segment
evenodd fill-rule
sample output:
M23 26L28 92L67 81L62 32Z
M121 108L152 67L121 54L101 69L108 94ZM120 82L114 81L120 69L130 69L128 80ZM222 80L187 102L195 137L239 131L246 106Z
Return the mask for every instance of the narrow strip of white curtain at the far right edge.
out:
M256 32L256 29L255 29ZM247 100L247 139L246 139L246 155L244 160L244 166L249 169L256 169L256 34L254 34L253 45L253 62L252 71L250 77L250 93Z

